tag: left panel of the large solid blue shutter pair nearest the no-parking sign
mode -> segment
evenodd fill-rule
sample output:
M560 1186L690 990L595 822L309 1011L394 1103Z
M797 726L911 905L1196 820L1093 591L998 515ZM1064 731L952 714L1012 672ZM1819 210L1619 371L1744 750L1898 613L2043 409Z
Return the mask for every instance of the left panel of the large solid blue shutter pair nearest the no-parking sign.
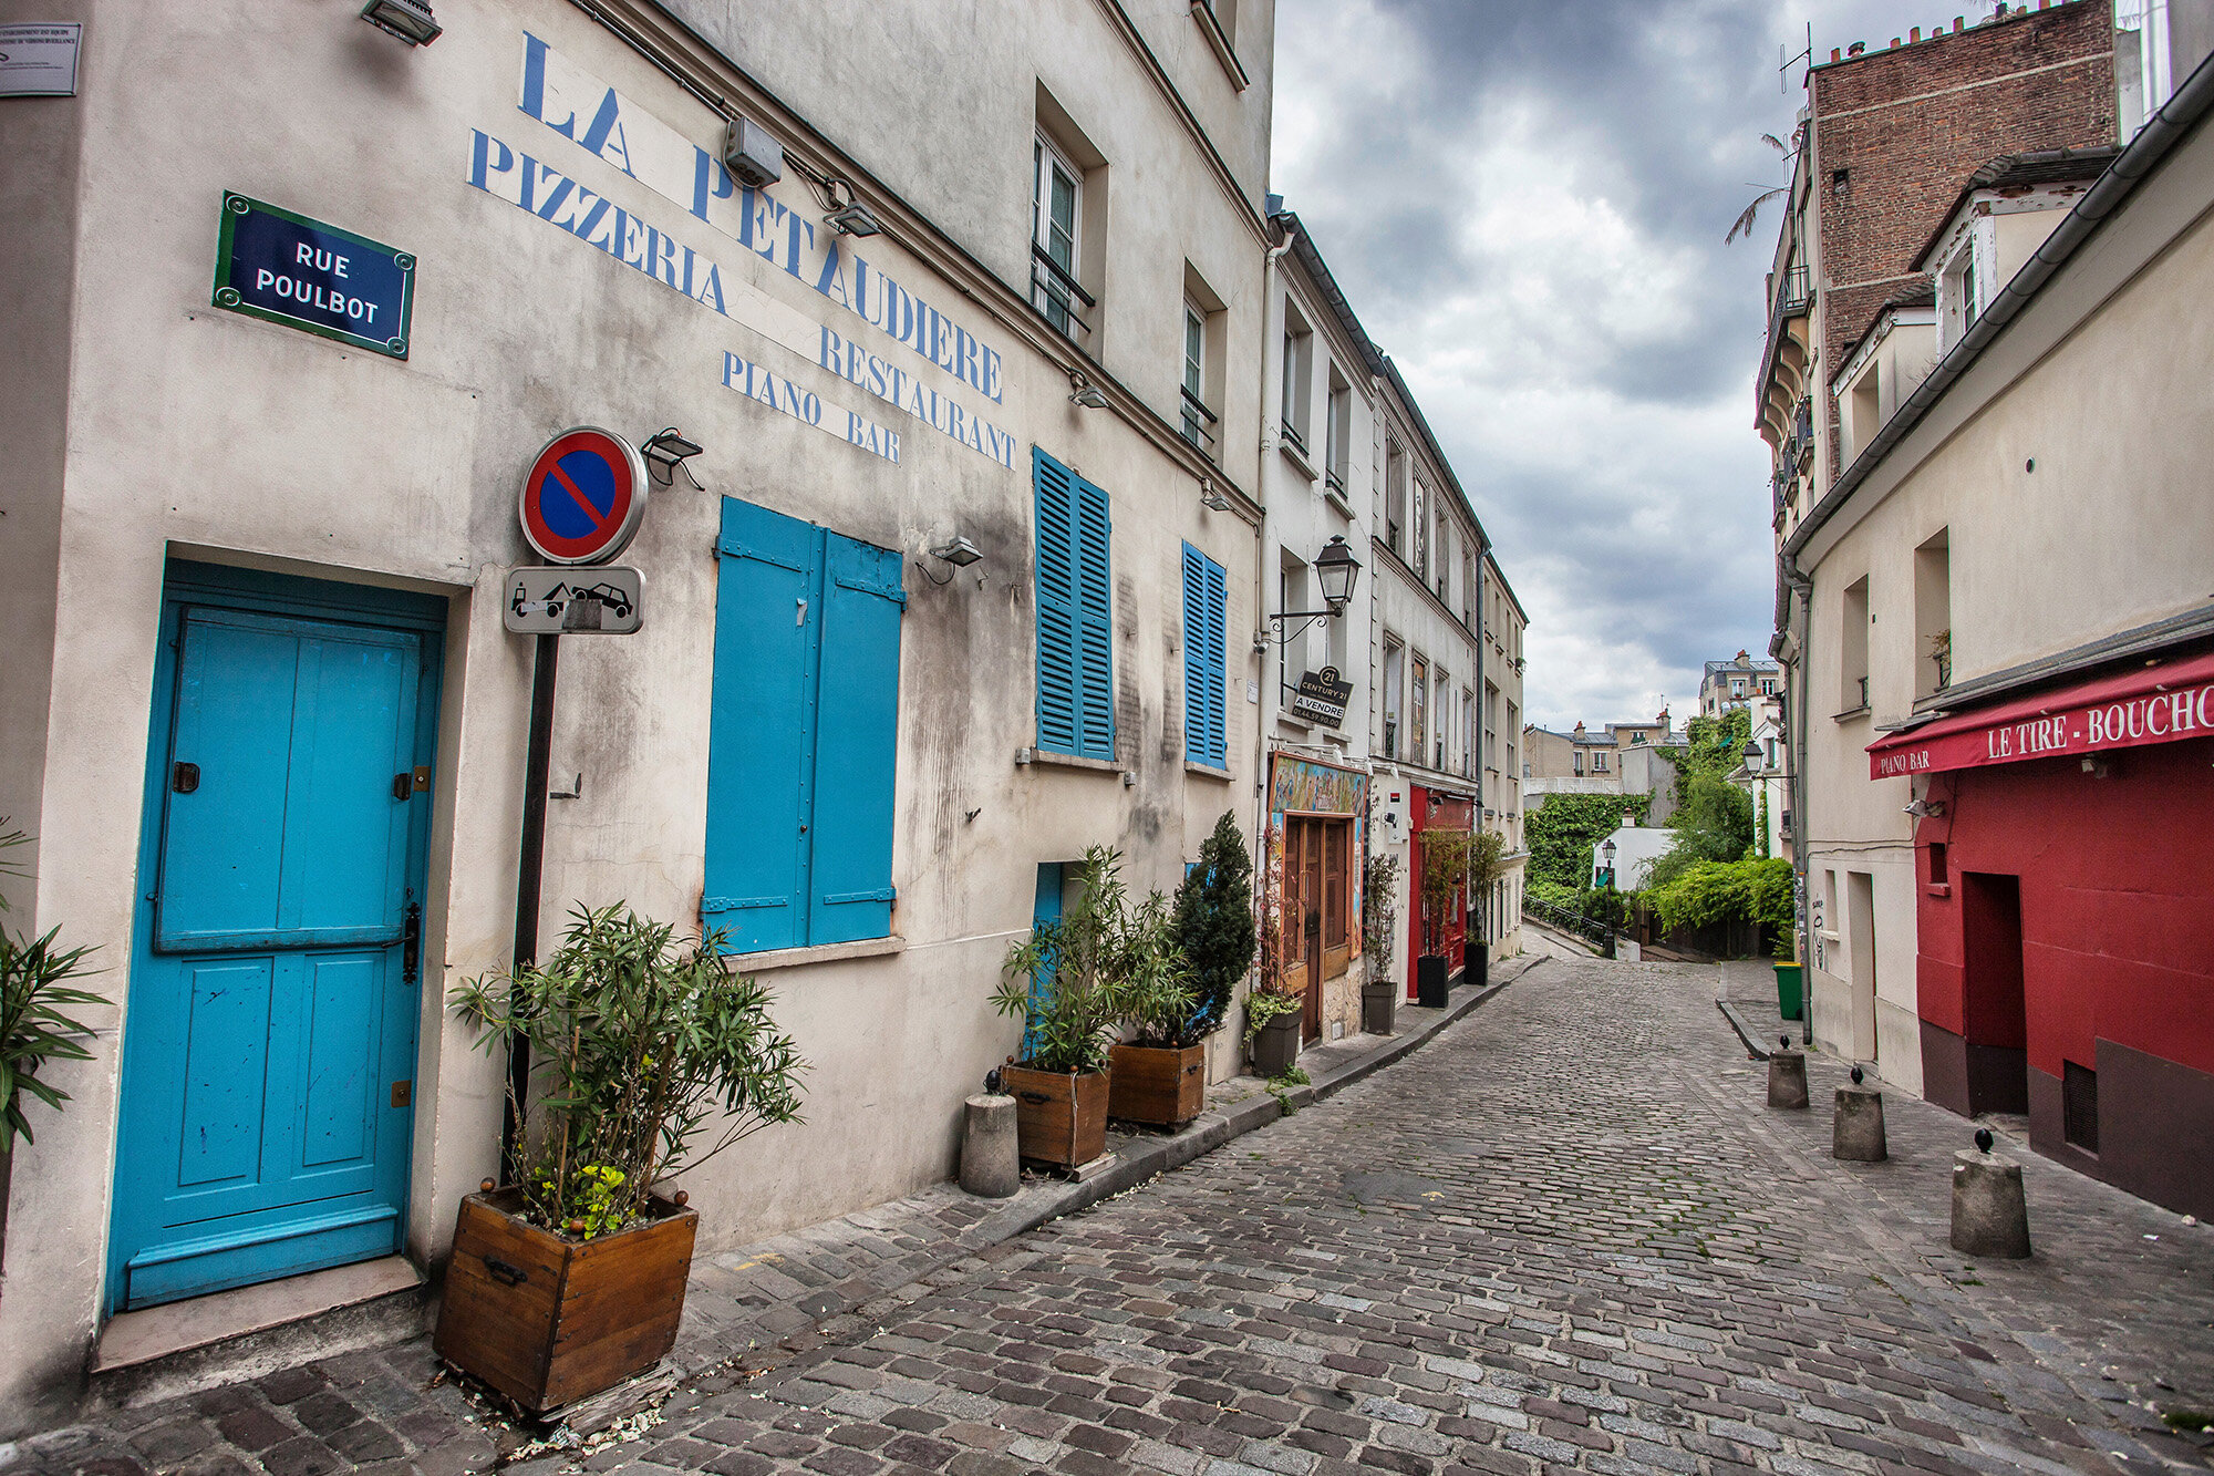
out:
M806 942L817 532L722 501L702 926L755 953Z

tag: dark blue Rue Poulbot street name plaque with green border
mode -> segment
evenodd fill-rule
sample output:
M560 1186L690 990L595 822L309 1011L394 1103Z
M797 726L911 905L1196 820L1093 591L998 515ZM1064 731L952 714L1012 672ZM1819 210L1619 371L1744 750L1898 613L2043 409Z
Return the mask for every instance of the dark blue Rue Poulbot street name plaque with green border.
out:
M215 306L405 359L414 257L226 191Z

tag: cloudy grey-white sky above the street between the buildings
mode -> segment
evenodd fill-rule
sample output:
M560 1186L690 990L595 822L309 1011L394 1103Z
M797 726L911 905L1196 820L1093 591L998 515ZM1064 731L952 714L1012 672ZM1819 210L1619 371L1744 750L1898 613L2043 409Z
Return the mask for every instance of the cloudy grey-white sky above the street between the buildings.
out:
M1937 11L1944 9L1939 16ZM1530 612L1528 720L1678 720L1765 654L1760 279L1722 233L1815 53L1957 4L1277 0L1275 188L1421 399ZM1970 7L1988 13L1986 7Z

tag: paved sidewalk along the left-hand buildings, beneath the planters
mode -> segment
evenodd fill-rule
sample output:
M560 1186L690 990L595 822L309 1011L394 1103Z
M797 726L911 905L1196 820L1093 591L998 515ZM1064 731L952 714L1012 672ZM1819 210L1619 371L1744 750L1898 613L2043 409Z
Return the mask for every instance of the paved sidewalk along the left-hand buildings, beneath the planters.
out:
M1207 1093L1207 1113L1176 1135L1109 1132L1116 1164L1083 1183L1025 1177L1012 1199L976 1199L952 1183L808 1226L693 1263L684 1323L669 1367L677 1414L775 1370L824 1343L868 1336L901 1308L981 1265L1021 1254L1012 1241L1036 1226L1120 1195L1320 1101L1406 1057L1448 1024L1481 1008L1545 955L1497 964L1490 986L1452 991L1446 1008L1399 1006L1397 1033L1308 1046L1308 1086L1277 1101L1258 1077ZM649 1416L651 1418L651 1416ZM514 1458L542 1476L587 1454L573 1436L540 1441L489 1403L443 1378L430 1336L283 1367L199 1394L89 1416L0 1445L0 1472L46 1476L323 1476L339 1469L461 1476Z

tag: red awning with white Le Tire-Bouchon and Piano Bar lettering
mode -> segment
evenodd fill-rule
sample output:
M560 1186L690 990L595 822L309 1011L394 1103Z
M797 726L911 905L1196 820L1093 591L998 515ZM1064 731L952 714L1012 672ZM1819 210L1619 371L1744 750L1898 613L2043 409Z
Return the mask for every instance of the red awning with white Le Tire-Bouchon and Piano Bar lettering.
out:
M2214 738L2214 652L1957 711L1869 745L1869 778Z

